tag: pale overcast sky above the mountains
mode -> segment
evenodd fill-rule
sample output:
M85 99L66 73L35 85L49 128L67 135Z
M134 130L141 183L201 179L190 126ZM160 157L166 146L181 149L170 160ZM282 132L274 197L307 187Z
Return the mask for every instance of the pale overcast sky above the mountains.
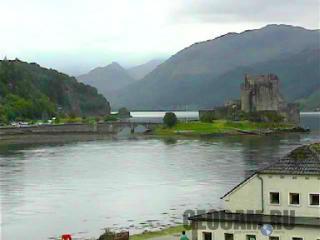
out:
M0 57L79 74L166 58L270 23L319 28L320 0L0 0Z

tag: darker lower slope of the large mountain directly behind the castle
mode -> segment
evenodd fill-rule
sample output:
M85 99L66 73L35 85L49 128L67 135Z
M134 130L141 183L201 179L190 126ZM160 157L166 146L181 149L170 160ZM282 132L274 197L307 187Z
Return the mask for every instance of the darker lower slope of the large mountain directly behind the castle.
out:
M280 78L281 92L287 101L307 98L320 88L320 50L304 50L298 54L238 67L221 76L187 74L179 80L164 79L155 84L143 81L120 91L114 102L133 109L211 108L226 100L240 98L240 84L245 73L274 73ZM160 91L165 89L166 91ZM312 98L313 99L313 98ZM310 108L305 101L303 108Z

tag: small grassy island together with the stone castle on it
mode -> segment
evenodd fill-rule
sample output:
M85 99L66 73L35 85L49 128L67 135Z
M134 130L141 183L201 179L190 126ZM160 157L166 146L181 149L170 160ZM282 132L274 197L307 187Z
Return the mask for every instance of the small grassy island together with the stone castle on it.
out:
M306 132L299 127L298 105L285 102L279 82L275 74L246 74L240 100L228 100L224 106L200 110L199 121L157 127L154 133L162 136L225 136Z

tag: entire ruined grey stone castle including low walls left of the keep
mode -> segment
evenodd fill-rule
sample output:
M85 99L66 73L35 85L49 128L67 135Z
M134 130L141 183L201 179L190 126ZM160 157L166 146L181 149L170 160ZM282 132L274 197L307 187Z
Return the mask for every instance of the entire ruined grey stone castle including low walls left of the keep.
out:
M240 100L229 100L224 106L200 110L199 117L212 119L249 119L253 121L283 121L299 124L298 104L286 103L280 94L280 80L275 74L245 75Z

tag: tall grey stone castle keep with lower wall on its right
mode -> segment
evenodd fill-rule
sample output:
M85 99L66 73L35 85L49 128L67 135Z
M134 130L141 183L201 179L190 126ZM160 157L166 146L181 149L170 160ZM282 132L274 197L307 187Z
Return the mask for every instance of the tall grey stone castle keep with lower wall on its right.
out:
M273 111L286 122L299 123L300 120L298 105L285 102L275 74L245 75L241 84L241 110L246 113Z

